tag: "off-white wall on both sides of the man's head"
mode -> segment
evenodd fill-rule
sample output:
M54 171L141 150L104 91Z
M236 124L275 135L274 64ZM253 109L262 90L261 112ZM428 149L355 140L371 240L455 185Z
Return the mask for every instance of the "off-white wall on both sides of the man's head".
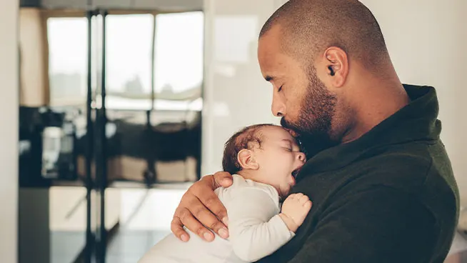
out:
M241 126L273 120L256 39L283 0L205 0L203 174L220 169L222 147ZM442 139L467 205L467 10L465 0L362 0L378 19L401 81L438 90ZM248 45L251 48L248 51Z

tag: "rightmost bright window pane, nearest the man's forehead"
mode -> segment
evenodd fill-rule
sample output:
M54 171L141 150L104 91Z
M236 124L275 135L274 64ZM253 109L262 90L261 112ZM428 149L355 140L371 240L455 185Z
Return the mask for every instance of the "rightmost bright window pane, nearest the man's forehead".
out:
M201 96L203 12L157 15L155 44L157 97L191 99Z

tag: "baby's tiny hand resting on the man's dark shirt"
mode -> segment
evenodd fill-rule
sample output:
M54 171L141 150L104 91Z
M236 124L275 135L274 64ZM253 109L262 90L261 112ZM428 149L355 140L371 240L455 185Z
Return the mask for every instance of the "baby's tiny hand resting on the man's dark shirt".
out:
M303 224L306 215L311 209L311 201L304 194L291 194L282 204L282 212L279 214L288 229L296 232Z

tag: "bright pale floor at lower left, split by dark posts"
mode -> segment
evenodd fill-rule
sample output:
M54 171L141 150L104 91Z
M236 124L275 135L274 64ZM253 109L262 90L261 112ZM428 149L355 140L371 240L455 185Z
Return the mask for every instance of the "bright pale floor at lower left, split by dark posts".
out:
M107 194L113 193L111 196L106 195L106 200L109 202L114 199L115 204L109 202L106 209L109 209L108 214L116 214L119 218L119 230L109 242L106 262L136 263L156 242L169 234L172 215L190 185L162 184L154 189L141 189L141 184L121 183L121 189L109 189ZM50 210L53 213L49 224L50 261L46 262L74 262L84 249L86 203L79 202L84 194L85 190L70 187L51 191ZM74 207L74 204L80 204L79 209L64 219L69 209L62 211L64 209L59 208ZM45 262L45 259L41 262Z

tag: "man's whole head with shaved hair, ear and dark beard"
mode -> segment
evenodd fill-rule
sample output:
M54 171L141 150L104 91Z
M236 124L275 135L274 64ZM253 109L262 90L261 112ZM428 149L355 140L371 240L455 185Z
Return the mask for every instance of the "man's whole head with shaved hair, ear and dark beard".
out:
M271 111L310 154L368 129L374 111L362 107L383 97L376 92L402 92L378 22L357 0L283 4L261 29L258 62L273 85Z

